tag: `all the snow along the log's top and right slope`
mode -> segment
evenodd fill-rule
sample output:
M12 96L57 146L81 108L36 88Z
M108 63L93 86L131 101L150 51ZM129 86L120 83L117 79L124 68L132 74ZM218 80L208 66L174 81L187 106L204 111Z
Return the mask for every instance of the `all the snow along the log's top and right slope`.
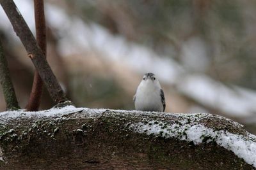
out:
M224 117L210 115L205 113L182 114L182 113L157 113L157 112L142 112L142 111L125 111L125 110L106 110L106 109L88 109L76 108L74 106L66 106L64 108L52 108L51 110L29 112L24 110L19 111L4 111L0 113L0 123L5 124L13 118L30 118L30 117L54 117L63 118L63 115L68 115L74 112L88 117L100 117L107 111L120 115L130 115L131 117L143 116L143 120L138 123L127 122L127 127L130 131L154 134L163 138L177 138L185 141L193 141L195 145L200 143L209 143L215 141L218 145L223 146L227 150L234 152L237 157L244 159L248 164L256 167L256 136L246 132L245 135L233 134L224 130L214 130L200 124L203 118L219 118L230 122L232 126L241 129L243 125L233 122ZM146 115L146 117L145 117ZM161 120L152 120L152 116L159 115ZM148 118L147 118L148 117ZM150 118L151 117L151 118ZM175 122L170 118L175 119ZM1 150L0 150L1 151ZM3 154L2 154L3 155ZM0 152L1 156L1 152ZM0 157L1 159L1 157ZM3 159L3 158L2 158Z

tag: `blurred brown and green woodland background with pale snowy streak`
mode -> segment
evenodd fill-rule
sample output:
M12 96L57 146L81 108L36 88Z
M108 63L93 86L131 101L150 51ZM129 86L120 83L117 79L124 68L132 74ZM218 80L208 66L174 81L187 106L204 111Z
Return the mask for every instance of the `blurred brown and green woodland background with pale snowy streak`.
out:
M35 34L33 1L15 3ZM166 112L214 113L256 134L256 1L49 0L45 18L47 60L77 107L134 110L152 72ZM34 67L2 8L0 38L24 108ZM44 89L40 109L52 106Z

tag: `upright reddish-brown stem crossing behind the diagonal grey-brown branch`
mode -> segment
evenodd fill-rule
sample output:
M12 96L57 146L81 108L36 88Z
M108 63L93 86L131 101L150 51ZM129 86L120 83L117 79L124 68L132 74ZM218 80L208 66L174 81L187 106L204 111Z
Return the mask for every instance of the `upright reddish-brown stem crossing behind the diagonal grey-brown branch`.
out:
M46 27L44 17L44 0L34 0L35 6L35 24L36 24L36 41L38 46L46 57ZM26 109L29 111L38 111L42 95L43 81L35 71L32 90Z

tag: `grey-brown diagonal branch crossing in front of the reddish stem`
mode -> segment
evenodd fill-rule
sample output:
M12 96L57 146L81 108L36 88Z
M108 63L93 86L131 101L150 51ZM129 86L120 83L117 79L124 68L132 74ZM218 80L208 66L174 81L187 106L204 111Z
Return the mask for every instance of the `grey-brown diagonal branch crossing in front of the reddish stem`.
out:
M6 15L13 25L13 29L19 36L20 41L28 52L28 57L32 60L36 70L40 74L40 77L44 81L45 87L49 91L54 103L58 104L63 101L67 101L63 90L60 87L56 76L52 73L52 69L49 66L47 60L44 57L44 53L36 44L32 32L26 24L24 18L20 14L18 8L12 0L0 0L1 6L3 7Z

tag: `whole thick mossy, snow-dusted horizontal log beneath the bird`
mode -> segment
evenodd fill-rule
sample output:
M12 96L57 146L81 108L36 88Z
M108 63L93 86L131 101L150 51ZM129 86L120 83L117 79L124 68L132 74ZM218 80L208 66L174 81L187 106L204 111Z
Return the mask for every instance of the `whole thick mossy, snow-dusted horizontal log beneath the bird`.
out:
M81 154L83 153L81 157L86 157L86 164L90 164L90 161L99 162L97 168L104 167L102 162L107 161L106 158L111 158L112 162L119 159L132 162L134 160L130 159L138 160L136 158L138 154L147 157L141 159L142 162L137 162L138 164L132 164L131 168L139 168L142 165L148 166L149 169L153 168L150 167L152 165L163 168L163 165L170 167L171 163L184 167L186 166L184 161L187 161L189 166L193 164L195 168L197 167L195 162L200 163L202 167L211 165L211 162L215 162L212 165L215 167L256 167L256 137L245 131L241 124L206 113L159 113L74 106L36 112L5 111L0 113L0 132L0 160L3 162L14 161L12 155L31 159L29 154L33 153L35 157L38 150L40 155L47 155L48 149L55 151L61 157L67 157L66 152L70 152L68 155L71 157L70 161L73 159L78 161L75 159L76 154L80 153L77 153L77 147L81 147L79 148ZM184 150L184 153L173 155L175 154L173 150L177 152ZM167 151L170 153L165 153ZM45 153L41 154L41 152ZM55 152L51 152L52 159L56 157L56 161L60 161L60 157L54 155ZM73 153L76 153L76 156L72 156ZM152 154L158 156L152 158ZM204 154L210 155L205 157ZM95 158L92 155L98 156ZM187 157L188 155L190 156ZM222 157L223 155L225 158ZM180 157L182 162L175 162L174 157ZM38 159L33 160L29 166L36 164ZM47 162L45 160L47 157L40 159ZM170 162L172 160L173 162ZM200 162L203 160L208 162ZM12 163L20 164L19 159L15 161L17 162ZM160 161L161 165L152 163L146 166L143 161ZM115 167L105 163L106 167ZM92 168L91 166L90 164L88 167ZM22 167L26 168L24 165Z

